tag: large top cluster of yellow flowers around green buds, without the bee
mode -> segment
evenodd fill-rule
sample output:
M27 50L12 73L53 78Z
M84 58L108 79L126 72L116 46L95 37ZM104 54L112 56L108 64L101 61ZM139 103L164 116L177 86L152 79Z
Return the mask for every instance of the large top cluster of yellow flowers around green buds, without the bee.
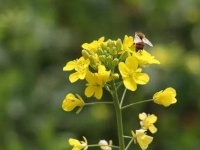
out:
M101 99L103 88L108 87L111 80L123 80L124 86L135 91L137 85L149 82L149 76L142 72L142 67L160 62L147 51L135 51L134 38L125 36L123 42L118 40L104 41L101 37L92 43L82 45L82 56L70 61L63 71L72 71L71 83L86 80L85 95Z

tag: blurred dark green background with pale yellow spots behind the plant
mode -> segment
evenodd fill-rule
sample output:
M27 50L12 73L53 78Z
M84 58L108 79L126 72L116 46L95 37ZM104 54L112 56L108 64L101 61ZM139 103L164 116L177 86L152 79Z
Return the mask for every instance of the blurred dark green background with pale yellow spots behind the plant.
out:
M199 0L0 0L0 150L69 150L68 138L82 136L90 144L117 144L111 106L87 106L79 115L61 109L69 92L95 101L84 96L85 83L70 84L62 68L81 56L82 43L135 31L154 44L146 49L161 65L146 70L149 84L130 92L125 103L169 86L178 102L125 110L125 134L139 128L138 113L145 111L158 116L149 150L199 150ZM110 98L105 92L103 99Z

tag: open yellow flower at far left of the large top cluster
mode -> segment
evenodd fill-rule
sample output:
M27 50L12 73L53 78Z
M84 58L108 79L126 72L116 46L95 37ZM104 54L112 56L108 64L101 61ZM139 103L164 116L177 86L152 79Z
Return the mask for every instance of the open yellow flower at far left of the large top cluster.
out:
M78 79L85 79L85 76L88 71L88 66L90 64L89 59L84 59L83 57L70 61L66 64L66 66L63 68L63 71L70 71L75 70L75 73L72 73L69 76L69 81L71 83L76 82Z

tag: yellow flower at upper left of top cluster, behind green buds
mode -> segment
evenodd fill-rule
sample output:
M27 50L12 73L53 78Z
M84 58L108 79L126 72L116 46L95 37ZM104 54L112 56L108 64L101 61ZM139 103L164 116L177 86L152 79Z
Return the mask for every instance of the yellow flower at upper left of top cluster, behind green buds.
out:
M98 47L103 43L103 41L104 41L104 37L101 37L99 38L98 41L95 40L92 43L84 43L82 45L82 48L89 51L97 52Z

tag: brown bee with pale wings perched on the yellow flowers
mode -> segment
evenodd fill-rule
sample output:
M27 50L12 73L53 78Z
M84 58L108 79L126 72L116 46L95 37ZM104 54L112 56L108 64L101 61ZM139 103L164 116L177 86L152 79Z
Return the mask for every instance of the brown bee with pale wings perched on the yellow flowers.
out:
M136 52L138 52L139 50L143 50L145 44L153 47L153 44L145 37L142 32L135 32L134 44Z

